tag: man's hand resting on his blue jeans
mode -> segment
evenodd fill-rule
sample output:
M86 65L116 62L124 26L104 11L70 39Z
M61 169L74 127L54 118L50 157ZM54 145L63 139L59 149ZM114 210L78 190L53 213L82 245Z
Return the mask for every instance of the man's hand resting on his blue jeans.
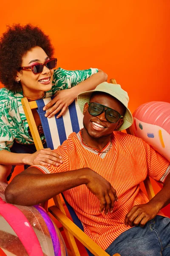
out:
M129 225L130 227L144 227L147 221L155 218L158 212L158 207L153 205L151 202L136 205L127 213L125 217L125 225Z

